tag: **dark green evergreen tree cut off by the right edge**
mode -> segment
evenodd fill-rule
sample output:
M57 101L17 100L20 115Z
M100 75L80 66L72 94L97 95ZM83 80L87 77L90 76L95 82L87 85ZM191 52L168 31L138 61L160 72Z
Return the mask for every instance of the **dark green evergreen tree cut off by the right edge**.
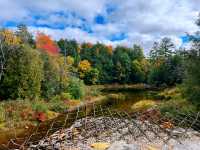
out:
M200 28L200 14L196 24ZM200 105L200 31L189 35L192 48L186 57L186 78L184 80L183 94L188 100Z

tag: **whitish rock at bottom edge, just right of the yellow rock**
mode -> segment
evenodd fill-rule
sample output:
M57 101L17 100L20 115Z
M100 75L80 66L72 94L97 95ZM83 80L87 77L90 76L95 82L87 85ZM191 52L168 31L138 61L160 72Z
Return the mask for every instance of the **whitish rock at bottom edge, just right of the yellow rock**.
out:
M126 144L124 141L114 142L108 150L140 150L136 144Z

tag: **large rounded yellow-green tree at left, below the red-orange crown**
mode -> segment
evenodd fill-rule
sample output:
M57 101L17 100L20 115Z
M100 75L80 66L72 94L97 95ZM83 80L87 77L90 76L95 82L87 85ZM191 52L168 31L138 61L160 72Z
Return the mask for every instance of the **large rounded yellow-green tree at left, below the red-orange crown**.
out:
M28 46L15 49L7 59L5 74L0 84L3 98L37 98L43 79L40 53Z

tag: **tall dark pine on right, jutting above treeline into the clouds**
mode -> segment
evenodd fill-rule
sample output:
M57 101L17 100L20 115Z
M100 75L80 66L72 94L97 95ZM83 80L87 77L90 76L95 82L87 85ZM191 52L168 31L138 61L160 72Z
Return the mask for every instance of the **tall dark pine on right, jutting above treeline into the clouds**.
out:
M151 70L148 81L157 86L181 83L183 78L183 57L175 49L169 38L154 43L150 52Z

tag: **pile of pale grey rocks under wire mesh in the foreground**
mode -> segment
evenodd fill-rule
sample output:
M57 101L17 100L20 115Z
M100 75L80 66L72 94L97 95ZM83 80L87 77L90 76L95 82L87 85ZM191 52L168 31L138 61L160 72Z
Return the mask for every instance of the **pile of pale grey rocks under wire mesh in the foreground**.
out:
M98 143L106 146L95 147ZM101 145L101 144L100 144ZM149 121L86 117L42 139L29 150L198 150L200 134L192 129L162 126Z

